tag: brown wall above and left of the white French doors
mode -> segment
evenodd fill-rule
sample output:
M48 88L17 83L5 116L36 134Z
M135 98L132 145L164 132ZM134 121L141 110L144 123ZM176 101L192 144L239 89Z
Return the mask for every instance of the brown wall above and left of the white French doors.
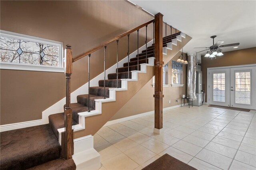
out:
M256 47L249 49L242 49L236 51L224 52L224 55L217 57L217 59L210 59L209 57L202 56L202 79L203 90L206 92L207 99L207 68L221 67L221 66L236 66L244 64L256 63Z

